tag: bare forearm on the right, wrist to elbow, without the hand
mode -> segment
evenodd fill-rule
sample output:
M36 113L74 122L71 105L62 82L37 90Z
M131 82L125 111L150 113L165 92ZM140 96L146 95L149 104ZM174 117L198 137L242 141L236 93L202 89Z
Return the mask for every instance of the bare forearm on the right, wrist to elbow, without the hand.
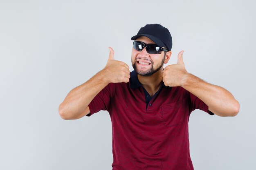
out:
M222 117L236 116L239 111L239 103L225 88L209 84L202 79L187 73L184 76L183 88L200 98L208 109Z

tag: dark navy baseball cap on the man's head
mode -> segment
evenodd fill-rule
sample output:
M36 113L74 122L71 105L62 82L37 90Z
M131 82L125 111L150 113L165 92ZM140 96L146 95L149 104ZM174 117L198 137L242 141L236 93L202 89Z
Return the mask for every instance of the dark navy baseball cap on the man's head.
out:
M173 40L171 33L160 24L146 24L139 29L137 35L133 36L131 40L136 40L140 36L146 36L158 46L166 47L168 51L172 49Z

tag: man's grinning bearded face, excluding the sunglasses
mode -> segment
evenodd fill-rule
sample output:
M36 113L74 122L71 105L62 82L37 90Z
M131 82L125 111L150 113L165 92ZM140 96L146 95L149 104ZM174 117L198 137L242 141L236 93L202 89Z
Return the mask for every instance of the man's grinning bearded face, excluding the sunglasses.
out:
M145 36L137 38L136 41L141 41L145 44L155 44L155 42ZM161 54L149 54L146 48L142 51L137 51L132 48L132 67L139 75L153 75L163 68L165 59L164 51L162 51Z

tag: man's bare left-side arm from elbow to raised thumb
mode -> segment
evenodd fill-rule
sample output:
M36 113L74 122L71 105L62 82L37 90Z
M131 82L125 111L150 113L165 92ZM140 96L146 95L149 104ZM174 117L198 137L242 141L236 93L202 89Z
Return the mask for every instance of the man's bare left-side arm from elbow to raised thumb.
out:
M88 105L104 87L109 83L129 82L129 78L129 66L115 60L114 51L110 48L106 67L67 94L59 106L59 115L65 120L70 120L79 119L89 114Z

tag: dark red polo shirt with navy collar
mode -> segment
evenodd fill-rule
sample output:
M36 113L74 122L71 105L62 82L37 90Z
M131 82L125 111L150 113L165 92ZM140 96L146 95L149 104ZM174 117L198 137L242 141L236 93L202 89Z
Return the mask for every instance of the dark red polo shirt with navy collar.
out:
M189 154L189 115L208 106L182 87L162 82L153 97L137 73L128 83L110 83L90 102L90 116L109 112L112 170L193 170Z

